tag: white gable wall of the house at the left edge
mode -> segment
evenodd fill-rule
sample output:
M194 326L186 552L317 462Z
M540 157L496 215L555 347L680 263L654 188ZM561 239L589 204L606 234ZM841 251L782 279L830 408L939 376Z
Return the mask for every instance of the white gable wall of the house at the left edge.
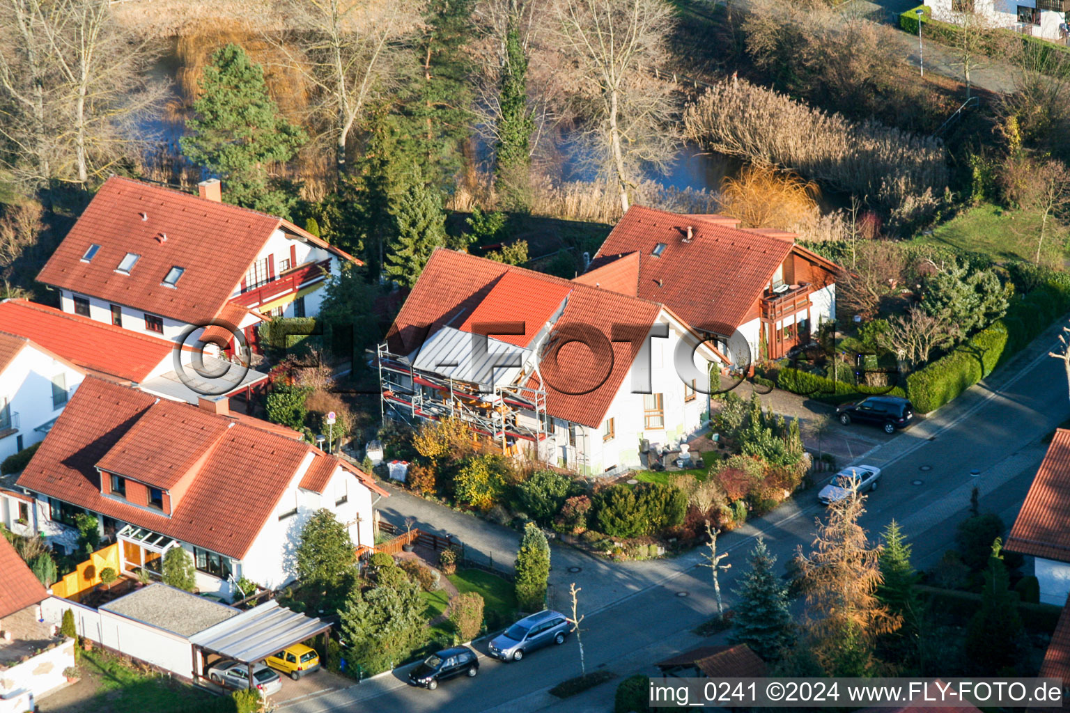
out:
M0 438L0 460L18 451L19 436L22 437L22 448L43 440L46 434L34 429L63 413L66 402L52 407L52 377L59 374L66 378L70 401L85 374L30 345L24 347L0 373L0 397L11 404L13 421L18 414L18 431Z

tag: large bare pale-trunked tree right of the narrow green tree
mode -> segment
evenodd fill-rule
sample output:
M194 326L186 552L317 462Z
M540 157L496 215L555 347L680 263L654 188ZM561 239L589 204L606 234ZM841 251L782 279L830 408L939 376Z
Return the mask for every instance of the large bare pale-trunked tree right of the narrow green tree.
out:
M667 60L673 26L663 0L560 0L559 37L576 72L584 137L627 212L644 164L664 166L677 133L672 87L651 75Z

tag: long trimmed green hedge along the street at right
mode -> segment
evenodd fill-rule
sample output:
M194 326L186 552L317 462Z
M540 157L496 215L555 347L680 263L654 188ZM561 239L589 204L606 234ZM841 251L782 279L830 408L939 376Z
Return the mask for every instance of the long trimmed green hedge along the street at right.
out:
M1018 354L1067 310L1070 280L1059 275L1013 300L1003 319L906 377L906 392L915 410L926 414L952 401Z

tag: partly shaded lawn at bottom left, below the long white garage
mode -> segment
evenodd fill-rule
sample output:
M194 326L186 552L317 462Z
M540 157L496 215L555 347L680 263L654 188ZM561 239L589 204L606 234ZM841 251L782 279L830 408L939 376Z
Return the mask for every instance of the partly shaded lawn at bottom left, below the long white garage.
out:
M220 706L232 706L229 700L192 685L136 671L103 651L94 649L78 654L82 675L97 683L96 695L80 707L87 711L218 711Z

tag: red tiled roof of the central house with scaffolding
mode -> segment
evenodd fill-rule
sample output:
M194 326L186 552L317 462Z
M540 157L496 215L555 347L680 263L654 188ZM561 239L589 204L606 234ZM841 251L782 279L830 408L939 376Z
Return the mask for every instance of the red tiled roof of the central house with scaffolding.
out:
M598 428L631 369L641 341L611 342L613 325L652 325L661 310L660 305L440 248L427 262L386 335L391 351L410 354L426 341L437 326L476 310L507 273L524 276L534 280L529 284L544 285L546 290L571 290L565 311L555 325L559 335L569 334L569 329L593 329L605 337L606 341L599 344L612 350L612 359L608 350L596 354L574 342L560 348L556 368L546 358L541 366L548 382L547 412L557 418ZM530 297L526 293L511 294L521 313L524 309L521 306Z

